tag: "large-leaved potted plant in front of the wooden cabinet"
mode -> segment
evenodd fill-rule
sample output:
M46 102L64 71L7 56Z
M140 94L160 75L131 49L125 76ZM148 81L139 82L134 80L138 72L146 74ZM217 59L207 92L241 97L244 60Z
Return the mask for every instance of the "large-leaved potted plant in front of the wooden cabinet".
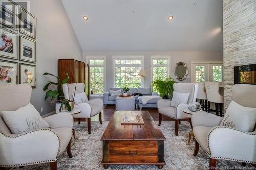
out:
M50 74L48 72L45 72L44 74L42 74L44 76L52 76L54 78L57 79L57 82L53 82L53 81L48 81L48 80L45 80L46 82L48 82L45 87L43 88L44 91L46 91L46 96L45 96L45 101L48 99L48 98L51 98L51 104L53 102L56 102L56 112L58 113L58 111L61 110L61 107L63 105L65 105L66 109L68 111L71 111L72 110L72 106L73 106L73 101L71 100L67 100L64 98L64 94L63 94L63 90L62 90L62 85L67 83L69 81L69 75L68 73L66 73L66 78L63 79L62 81L59 80L59 77L53 75L53 74ZM48 89L51 85L55 85L56 89L55 90L51 90L51 89ZM57 99L54 101L54 99Z

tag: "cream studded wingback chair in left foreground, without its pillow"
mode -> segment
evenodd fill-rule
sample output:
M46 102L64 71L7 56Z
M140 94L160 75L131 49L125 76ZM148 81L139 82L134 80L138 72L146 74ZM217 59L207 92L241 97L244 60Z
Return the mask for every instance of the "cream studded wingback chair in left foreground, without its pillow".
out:
M0 113L28 105L31 91L29 85L0 86ZM58 113L45 120L50 128L12 134L0 116L0 169L50 162L51 170L55 170L57 158L66 148L69 157L72 157L73 117L69 113Z

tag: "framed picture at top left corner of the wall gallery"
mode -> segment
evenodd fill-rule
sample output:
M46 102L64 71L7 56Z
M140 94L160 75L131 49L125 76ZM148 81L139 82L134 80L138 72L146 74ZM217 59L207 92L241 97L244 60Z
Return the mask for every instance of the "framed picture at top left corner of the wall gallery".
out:
M0 22L7 27L18 28L18 13L19 7L12 1L0 1Z

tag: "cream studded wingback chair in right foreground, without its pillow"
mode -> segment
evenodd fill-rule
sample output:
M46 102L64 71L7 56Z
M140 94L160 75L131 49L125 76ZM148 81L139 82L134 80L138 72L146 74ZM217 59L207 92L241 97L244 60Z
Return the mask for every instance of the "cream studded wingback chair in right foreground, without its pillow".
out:
M236 84L232 87L233 101L256 108L256 86ZM242 114L242 113L241 113ZM216 169L216 159L256 163L256 130L242 132L230 127L219 126L223 117L200 112L194 113L191 122L196 138L194 156L199 145L209 155L209 169ZM250 121L250 120L248 120Z

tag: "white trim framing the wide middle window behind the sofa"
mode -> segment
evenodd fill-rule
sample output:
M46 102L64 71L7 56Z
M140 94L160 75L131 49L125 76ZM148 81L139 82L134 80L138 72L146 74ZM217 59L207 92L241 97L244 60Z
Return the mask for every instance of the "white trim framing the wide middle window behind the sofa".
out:
M115 85L116 85L116 83L115 83L115 77L116 77L116 62L115 62L115 60L132 60L132 59L140 59L141 60L141 69L144 69L144 56L140 56L140 55L138 55L138 56L135 56L135 55L131 55L131 56L129 56L129 55L126 55L126 56L122 56L122 55L116 55L116 56L112 56L112 78L113 78L113 80L112 80L112 87L113 88L115 88ZM121 65L121 66L125 66L125 65ZM136 65L129 65L129 66L137 66L137 64ZM140 78L140 86L141 87L144 87L144 79L143 78Z

